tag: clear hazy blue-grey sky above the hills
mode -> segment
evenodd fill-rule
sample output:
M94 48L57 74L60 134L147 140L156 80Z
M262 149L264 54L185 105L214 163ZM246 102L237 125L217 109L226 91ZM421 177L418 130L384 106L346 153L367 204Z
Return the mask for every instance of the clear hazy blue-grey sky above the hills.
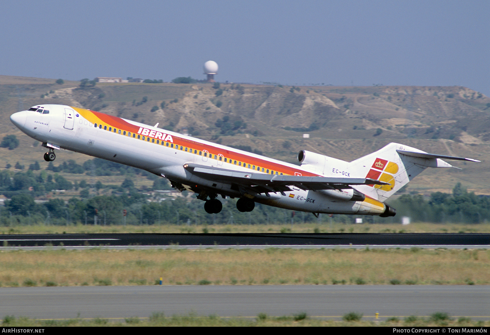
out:
M0 74L334 86L490 96L490 1L6 0Z

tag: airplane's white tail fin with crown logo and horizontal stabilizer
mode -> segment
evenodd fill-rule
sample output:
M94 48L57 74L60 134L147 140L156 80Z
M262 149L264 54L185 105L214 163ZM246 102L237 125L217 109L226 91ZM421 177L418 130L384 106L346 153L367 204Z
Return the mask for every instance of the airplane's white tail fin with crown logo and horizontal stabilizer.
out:
M390 143L367 156L348 163L357 177L377 179L390 185L359 185L355 188L379 201L385 201L426 168L450 168L441 160L476 160L461 157L429 154L419 149ZM479 162L479 161L476 161Z

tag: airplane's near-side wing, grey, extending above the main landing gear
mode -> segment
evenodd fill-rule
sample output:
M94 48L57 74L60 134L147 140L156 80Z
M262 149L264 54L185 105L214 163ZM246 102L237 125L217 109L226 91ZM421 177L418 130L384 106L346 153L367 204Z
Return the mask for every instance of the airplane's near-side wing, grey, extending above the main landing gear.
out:
M201 178L216 180L218 182L236 184L256 193L291 191L288 186L308 190L342 190L351 189L351 185L389 185L371 178L336 178L336 177L310 177L266 174L258 172L245 172L214 168L193 163L184 165L189 172Z

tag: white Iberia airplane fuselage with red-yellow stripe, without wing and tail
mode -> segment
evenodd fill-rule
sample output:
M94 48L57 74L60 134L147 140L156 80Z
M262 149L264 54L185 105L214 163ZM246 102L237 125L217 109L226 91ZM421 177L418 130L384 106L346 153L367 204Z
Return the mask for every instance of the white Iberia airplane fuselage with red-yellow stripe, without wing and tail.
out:
M349 177L359 177L356 171L346 171L347 162L343 161L338 161L339 166L332 166L325 172L318 173L102 113L63 105L38 107L49 110L49 113L42 114L40 109L23 111L13 114L11 120L25 134L43 142L43 145L141 168L180 183L188 190L207 190L231 197L244 196L243 192L234 189L231 184L204 179L190 173L183 167L186 163L254 173L339 177L340 171L345 175L349 173ZM294 186L290 189L285 195L270 192L246 196L266 205L312 213L379 215L385 210L383 203L373 199L348 201L320 191L304 191Z

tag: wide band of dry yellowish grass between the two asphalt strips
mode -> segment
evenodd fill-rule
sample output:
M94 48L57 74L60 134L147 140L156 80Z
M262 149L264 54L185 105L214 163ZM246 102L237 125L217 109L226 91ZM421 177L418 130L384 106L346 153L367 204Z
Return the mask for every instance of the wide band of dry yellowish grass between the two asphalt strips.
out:
M488 285L490 250L50 250L0 252L1 286Z

